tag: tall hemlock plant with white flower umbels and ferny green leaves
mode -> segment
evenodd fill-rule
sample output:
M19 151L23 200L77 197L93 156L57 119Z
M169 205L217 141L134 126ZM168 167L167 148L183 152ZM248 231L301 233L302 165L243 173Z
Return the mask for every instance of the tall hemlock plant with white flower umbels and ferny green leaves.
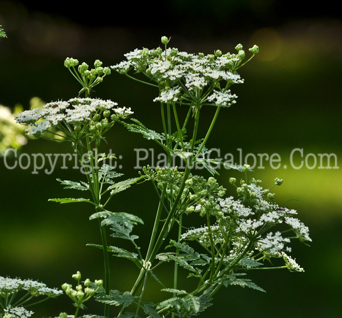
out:
M92 206L90 220L97 219L102 244L88 244L99 248L104 255L103 280L94 283L89 279L81 284L81 273L73 278L75 289L63 284L62 289L76 307L74 316L62 312L61 318L79 317L90 297L104 304L104 312L85 315L84 318L161 318L192 317L200 315L211 305L211 300L221 287L239 285L259 291L261 287L247 278L250 270L288 269L303 272L290 255L293 239L303 243L311 241L308 228L299 221L297 212L280 207L271 189L282 184L276 178L270 188L262 188L261 181L250 178L250 166L235 166L216 159L206 160L209 150L206 143L214 128L221 108L235 104L237 96L231 86L243 83L237 70L258 53L255 45L249 49L251 57L245 60L245 51L238 44L234 54L189 54L168 47L170 39L162 37L163 47L135 49L125 54L126 60L109 67L102 67L96 60L94 68L72 58L64 62L76 80L82 85L79 96L68 101L51 102L42 109L32 109L16 115L19 123L27 125L26 132L34 137L64 140L71 143L84 165L86 180L58 181L65 189L82 191L82 197L54 198L59 203L85 202ZM101 83L110 69L156 89L154 103L159 104L163 130L157 132L146 127L133 115L130 108L120 107L110 100L91 98L92 88ZM136 78L141 73L146 81ZM85 97L80 97L81 94ZM187 109L184 118L179 107ZM213 118L202 118L202 107L213 108ZM105 153L100 152L105 133L115 123L124 125L131 132L139 133L163 149L165 167L151 169L146 166L136 178L123 180L123 174L104 163ZM207 126L207 132L199 135L199 125ZM172 166L178 156L185 169ZM205 178L193 173L192 167L203 165L212 176ZM230 178L236 196L227 196L226 189L217 183L213 167L225 165L242 173L240 182ZM143 181L150 182L155 190L157 208L151 229L150 243L139 246L139 237L133 234L134 226L143 224L138 216L126 212L107 210L114 194L134 187ZM90 207L90 206L89 206ZM203 226L188 228L192 218L200 218ZM176 235L171 232L176 228ZM109 230L109 232L108 232ZM150 230L150 229L147 229ZM173 236L174 235L174 236ZM112 238L127 240L131 249L110 245ZM119 240L120 241L120 240ZM109 255L133 262L136 279L127 291L117 290L110 283ZM155 269L172 263L173 283L161 281ZM273 265L274 264L274 265ZM179 276L188 273L195 282L192 290L179 287ZM117 274L116 274L117 275ZM7 278L10 279L10 278ZM145 291L151 280L160 284L160 301L147 299ZM192 285L191 285L192 286ZM0 284L1 297L8 299L8 292ZM58 292L60 294L61 291ZM57 296L57 295L56 295ZM16 304L0 298L0 317L30 317L32 312L14 309ZM112 308L111 308L112 307ZM100 315L100 316L99 316ZM103 315L103 316L101 316Z

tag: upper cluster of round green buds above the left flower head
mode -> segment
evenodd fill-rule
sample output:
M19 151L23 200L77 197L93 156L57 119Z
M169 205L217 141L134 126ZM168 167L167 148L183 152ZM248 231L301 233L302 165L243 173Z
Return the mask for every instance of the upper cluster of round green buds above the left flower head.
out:
M94 62L94 68L89 69L89 65L83 62L79 64L79 61L73 58L66 58L64 66L69 69L75 79L82 85L82 89L79 91L79 96L85 92L85 97L88 97L92 93L94 86L100 84L106 75L110 74L109 67L103 67L100 60ZM76 70L76 66L78 68Z

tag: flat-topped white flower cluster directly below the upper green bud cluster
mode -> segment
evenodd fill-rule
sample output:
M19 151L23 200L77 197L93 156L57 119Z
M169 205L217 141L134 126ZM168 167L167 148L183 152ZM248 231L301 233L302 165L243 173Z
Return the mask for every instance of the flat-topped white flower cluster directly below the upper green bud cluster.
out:
M63 123L71 125L87 125L94 115L104 111L112 111L117 118L126 118L133 112L130 108L116 107L117 103L110 100L93 98L72 98L65 101L57 101L45 104L43 108L25 110L15 115L18 123L28 125L28 135L39 136L51 127L57 127ZM108 113L108 116L110 113ZM107 116L107 117L108 117Z

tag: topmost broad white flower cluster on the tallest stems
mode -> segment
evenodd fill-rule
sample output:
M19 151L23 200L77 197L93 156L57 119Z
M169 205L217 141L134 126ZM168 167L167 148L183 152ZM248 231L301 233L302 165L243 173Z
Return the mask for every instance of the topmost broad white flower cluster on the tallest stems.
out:
M130 69L148 76L160 88L160 94L153 101L162 103L198 103L229 107L235 103L236 95L228 89L221 89L218 83L243 83L235 71L235 64L241 61L238 54L221 56L178 52L176 48L150 50L135 49L125 54L126 61L112 65L121 74ZM180 98L180 96L182 98Z

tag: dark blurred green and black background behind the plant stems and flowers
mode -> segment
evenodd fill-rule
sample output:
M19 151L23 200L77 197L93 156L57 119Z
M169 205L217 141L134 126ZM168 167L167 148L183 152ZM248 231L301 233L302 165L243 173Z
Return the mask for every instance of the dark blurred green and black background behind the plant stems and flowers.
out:
M293 244L292 255L305 273L251 271L249 278L267 293L240 287L221 289L213 306L200 317L341 317L342 173L341 169L319 169L319 162L314 162L321 153L333 153L337 162L330 167L342 165L339 10L331 5L279 0L31 2L0 1L0 24L8 36L0 39L0 104L11 108L21 104L28 109L32 97L45 102L75 97L80 87L63 66L66 57L89 65L95 59L104 66L113 65L136 47L159 46L163 35L171 36L171 46L188 52L208 54L218 48L234 52L237 43L246 51L253 44L259 46L256 58L240 69L245 83L232 87L237 104L222 109L208 147L220 148L221 156L232 153L235 160L238 149L243 156L278 153L280 168L272 169L266 162L265 169L256 167L253 176L262 179L265 188L275 177L284 180L275 190L277 202L298 210L313 242L311 247ZM153 88L113 73L95 90L95 97L131 107L135 118L151 129L160 129ZM202 118L211 118L213 111L203 109ZM206 124L209 121L203 121L200 132L205 133ZM112 149L122 156L118 166L127 177L137 176L135 148L160 152L151 141L119 126L112 129L107 141L103 151ZM302 148L304 157L311 153L301 169L291 165L294 148ZM72 149L68 144L29 140L20 151L67 153ZM295 165L299 166L301 158L296 154ZM56 181L85 179L72 165L61 169L59 161L49 175L43 170L32 174L32 169L8 170L0 158L0 276L37 279L50 287L72 283L71 275L77 270L84 278L102 278L101 251L85 246L101 240L97 221L88 221L91 208L47 202L53 197L84 194L63 190ZM328 167L328 162L321 167ZM198 173L209 176L203 170ZM219 173L218 180L233 195L228 178L239 179L240 174L233 170ZM118 194L109 210L143 218L145 225L137 226L135 233L145 246L156 205L151 185L143 184ZM188 226L202 224L195 215L186 222ZM165 267L157 274L171 286L170 270ZM132 271L136 269L128 261L113 259L112 288L130 290L135 280ZM192 280L184 284L191 285ZM147 297L160 297L157 288L152 284ZM33 308L34 317L72 313L69 304L65 296L50 300ZM94 301L88 307L86 313L98 309Z

